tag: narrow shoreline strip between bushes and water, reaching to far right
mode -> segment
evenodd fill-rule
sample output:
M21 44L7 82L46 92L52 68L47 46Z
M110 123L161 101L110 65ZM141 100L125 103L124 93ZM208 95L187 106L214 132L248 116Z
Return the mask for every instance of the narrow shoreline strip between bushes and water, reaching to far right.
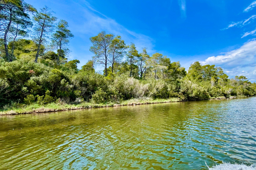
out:
M247 97L247 96L236 96L236 97ZM229 99L235 99L236 97L231 96ZM225 97L217 97L211 99L203 100L223 100L227 99ZM4 115L20 115L20 114L33 114L33 113L48 113L48 112L58 112L58 111L67 111L67 110L78 110L78 109L90 109L90 108L104 108L104 107L116 107L116 106L131 106L131 105L146 105L146 104L159 104L159 103L172 103L172 102L188 102L188 101L200 101L200 100L184 100L181 101L179 98L170 98L170 99L130 99L120 104L115 103L106 103L106 104L93 104L93 103L81 103L81 104L47 104L45 106L41 105L29 105L25 108L18 108L14 110L1 111L0 116Z

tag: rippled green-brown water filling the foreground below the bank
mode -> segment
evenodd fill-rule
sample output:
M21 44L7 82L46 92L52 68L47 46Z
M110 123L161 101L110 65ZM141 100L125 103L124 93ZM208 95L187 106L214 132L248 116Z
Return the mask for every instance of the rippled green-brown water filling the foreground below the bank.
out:
M1 116L0 169L254 170L255 103L252 97Z

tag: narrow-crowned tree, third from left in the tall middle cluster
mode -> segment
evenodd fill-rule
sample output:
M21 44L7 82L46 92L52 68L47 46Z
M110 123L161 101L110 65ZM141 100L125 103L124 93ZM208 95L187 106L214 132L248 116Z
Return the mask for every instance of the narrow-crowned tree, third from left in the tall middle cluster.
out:
M133 65L137 62L137 59L139 57L139 53L135 47L134 43L131 43L131 45L128 46L128 52L126 54L126 60L130 64L130 77L132 76L132 69Z

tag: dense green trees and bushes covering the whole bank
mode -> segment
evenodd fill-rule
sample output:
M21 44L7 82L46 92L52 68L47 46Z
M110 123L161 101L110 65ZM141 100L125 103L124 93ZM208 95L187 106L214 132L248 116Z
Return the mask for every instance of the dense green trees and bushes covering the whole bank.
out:
M120 103L129 99L203 100L254 96L256 84L244 76L228 79L215 65L179 62L160 53L139 52L120 36L104 31L91 37L93 57L81 69L68 61L68 23L48 7L37 11L23 0L1 0L0 107L37 103ZM33 16L32 19L30 16ZM103 75L94 67L104 67Z

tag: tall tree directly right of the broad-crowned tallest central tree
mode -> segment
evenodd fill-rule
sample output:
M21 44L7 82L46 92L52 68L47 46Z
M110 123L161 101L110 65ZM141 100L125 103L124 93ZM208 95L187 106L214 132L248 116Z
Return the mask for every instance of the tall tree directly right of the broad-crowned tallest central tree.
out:
M109 59L109 62L111 63L112 73L113 73L115 63L119 62L122 59L126 48L127 47L124 43L124 40L121 39L121 36L116 36L112 40L110 44L111 57Z

